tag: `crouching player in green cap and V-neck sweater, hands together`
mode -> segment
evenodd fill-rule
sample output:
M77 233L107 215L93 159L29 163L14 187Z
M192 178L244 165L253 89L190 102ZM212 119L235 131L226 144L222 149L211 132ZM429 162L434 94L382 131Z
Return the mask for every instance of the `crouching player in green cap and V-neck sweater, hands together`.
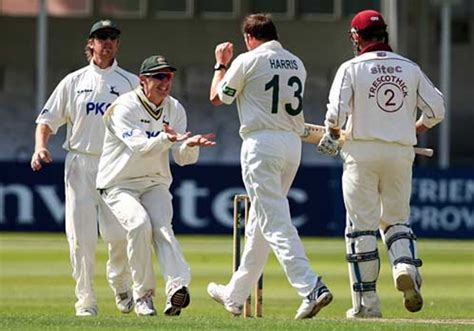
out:
M135 312L155 315L152 246L167 296L164 313L189 305L191 273L174 236L169 153L177 164L195 163L213 134L190 136L183 106L169 95L174 71L160 55L143 61L140 87L120 96L104 116L106 134L97 188L127 232Z

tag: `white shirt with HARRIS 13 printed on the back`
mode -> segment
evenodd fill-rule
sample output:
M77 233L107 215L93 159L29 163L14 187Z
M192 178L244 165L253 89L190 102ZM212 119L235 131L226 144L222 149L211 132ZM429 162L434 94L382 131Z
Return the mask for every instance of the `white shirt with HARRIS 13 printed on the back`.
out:
M237 99L240 135L256 130L304 132L303 62L276 41L235 58L218 86L221 101Z

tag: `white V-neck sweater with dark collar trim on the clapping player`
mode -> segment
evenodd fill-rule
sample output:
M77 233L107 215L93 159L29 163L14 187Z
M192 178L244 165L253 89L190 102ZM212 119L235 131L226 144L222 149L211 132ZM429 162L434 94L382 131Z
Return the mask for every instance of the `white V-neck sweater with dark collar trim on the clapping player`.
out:
M198 146L172 143L163 133L163 123L177 133L186 132L186 112L171 96L157 107L143 94L142 88L137 87L110 106L104 122L106 133L97 174L98 189L145 178L171 185L170 149L179 165L198 160Z

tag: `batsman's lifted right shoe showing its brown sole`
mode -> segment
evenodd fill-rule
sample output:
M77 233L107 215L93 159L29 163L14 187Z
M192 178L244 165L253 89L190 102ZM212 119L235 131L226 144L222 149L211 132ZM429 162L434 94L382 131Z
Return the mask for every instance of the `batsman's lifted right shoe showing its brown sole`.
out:
M415 313L421 310L423 297L420 292L420 277L412 277L407 270L400 270L395 274L395 286L403 292L405 308L408 311Z

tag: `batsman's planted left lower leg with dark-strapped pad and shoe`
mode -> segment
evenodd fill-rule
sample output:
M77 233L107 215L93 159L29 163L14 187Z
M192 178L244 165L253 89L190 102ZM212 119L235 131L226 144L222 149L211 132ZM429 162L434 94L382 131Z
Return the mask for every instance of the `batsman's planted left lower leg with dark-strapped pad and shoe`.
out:
M380 259L377 250L377 231L354 231L346 228L346 260L349 262L349 278L354 315L362 311L380 314L380 301L376 293ZM361 316L364 317L364 316Z

